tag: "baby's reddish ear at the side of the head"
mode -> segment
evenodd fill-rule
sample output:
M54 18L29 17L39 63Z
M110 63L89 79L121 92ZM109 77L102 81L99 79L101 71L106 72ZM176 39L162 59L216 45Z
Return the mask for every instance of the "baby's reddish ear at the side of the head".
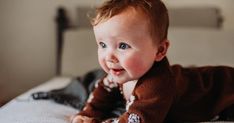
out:
M167 49L168 49L169 45L170 45L170 43L167 39L161 41L158 44L158 50L157 50L157 53L155 55L155 61L161 61L166 56Z

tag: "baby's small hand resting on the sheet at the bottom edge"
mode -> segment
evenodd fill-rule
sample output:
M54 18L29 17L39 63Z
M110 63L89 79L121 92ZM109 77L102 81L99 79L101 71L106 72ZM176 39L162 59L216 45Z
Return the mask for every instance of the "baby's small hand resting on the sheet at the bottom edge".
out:
M71 123L98 123L97 120L87 116L74 115L70 118Z

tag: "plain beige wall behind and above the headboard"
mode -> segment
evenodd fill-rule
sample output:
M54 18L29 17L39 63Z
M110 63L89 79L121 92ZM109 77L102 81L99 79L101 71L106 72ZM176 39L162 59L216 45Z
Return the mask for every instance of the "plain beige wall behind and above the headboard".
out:
M55 76L54 19L58 6L67 7L72 15L76 6L102 1L0 0L0 99L12 98ZM224 29L234 29L233 0L164 1L168 6L220 6L225 14Z

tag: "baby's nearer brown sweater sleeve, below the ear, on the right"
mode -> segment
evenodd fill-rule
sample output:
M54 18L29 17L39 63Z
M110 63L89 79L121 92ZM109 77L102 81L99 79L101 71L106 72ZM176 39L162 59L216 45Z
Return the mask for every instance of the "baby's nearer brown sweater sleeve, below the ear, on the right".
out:
M119 123L162 123L174 99L171 81L144 81L127 102Z

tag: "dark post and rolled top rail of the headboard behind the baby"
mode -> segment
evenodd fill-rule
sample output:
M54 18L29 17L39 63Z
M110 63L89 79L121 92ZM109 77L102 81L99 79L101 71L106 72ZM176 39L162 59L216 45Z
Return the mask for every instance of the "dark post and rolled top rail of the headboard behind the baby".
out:
M56 15L56 25L57 25L56 74L57 75L62 74L62 71L61 71L61 69L62 69L62 52L63 52L63 47L64 47L63 45L64 45L65 32L68 31L69 29L73 29L74 31L77 31L77 30L82 30L81 28L84 28L84 27L90 28L89 21L88 21L89 19L87 18L87 14L86 14L89 11L93 11L93 8L78 7L77 8L77 16L78 17L76 17L76 18L78 18L79 22L77 22L78 24L75 24L75 26L74 26L74 24L72 26L72 24L70 23L70 20L68 18L66 9L63 7L58 8L57 15ZM191 13L196 14L196 18L200 18L200 20L199 21L194 21L194 20L189 21L189 20L191 20L191 19L189 19L189 18L191 18ZM202 14L199 14L199 13L202 13ZM198 17L199 15L201 15L201 17ZM200 28L202 26L205 28L219 30L221 28L221 25L222 25L221 13L219 12L218 9L213 8L213 7L183 8L183 9L181 9L181 8L180 9L176 9L176 8L170 9L169 8L169 16L170 16L170 21L171 21L170 27L177 28L177 27L180 27L182 24L181 27L183 27L183 28L184 27L186 27L186 28L199 27ZM213 19L206 20L207 16L212 17ZM203 21L202 21L202 19L203 19ZM183 21L185 21L185 22L183 23ZM180 22L180 23L178 23L178 22ZM199 22L199 23L196 23L196 22ZM171 31L171 32L174 33L174 31ZM173 33L171 36L169 35L169 37L174 38L175 36L173 36ZM181 34L183 35L184 33L181 33ZM181 39L181 40L183 40L183 39Z

